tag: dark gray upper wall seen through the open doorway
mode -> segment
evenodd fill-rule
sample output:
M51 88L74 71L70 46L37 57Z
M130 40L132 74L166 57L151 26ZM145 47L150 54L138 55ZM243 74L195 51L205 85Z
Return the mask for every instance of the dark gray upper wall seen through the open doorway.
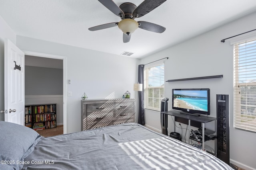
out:
M25 96L62 94L63 69L25 66Z

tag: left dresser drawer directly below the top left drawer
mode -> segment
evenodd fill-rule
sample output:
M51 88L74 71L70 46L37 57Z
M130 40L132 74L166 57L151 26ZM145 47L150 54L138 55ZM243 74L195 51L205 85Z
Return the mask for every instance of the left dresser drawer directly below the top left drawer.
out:
M87 124L109 122L113 120L113 112L88 113ZM88 128L87 128L88 129Z

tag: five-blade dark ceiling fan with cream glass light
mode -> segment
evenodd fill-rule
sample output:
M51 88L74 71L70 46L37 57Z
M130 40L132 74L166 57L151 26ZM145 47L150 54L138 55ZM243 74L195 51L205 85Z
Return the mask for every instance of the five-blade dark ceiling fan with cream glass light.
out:
M138 7L130 2L125 2L119 7L114 3L113 0L98 0L111 12L121 18L120 22L106 23L90 27L90 31L96 31L100 29L106 29L110 27L118 26L123 31L123 42L127 43L130 41L131 34L139 27L147 31L156 33L162 33L165 31L165 27L157 25L155 23L147 21L135 21L135 18L140 18L150 11L154 10L166 0L144 0Z

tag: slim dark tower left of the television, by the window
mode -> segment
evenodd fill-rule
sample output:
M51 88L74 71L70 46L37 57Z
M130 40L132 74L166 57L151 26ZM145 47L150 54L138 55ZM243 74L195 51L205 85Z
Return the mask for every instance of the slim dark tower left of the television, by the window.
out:
M168 111L168 98L163 98L161 100L161 112ZM168 127L168 115L167 114L160 114L161 115L161 129L162 134L168 135L167 127Z

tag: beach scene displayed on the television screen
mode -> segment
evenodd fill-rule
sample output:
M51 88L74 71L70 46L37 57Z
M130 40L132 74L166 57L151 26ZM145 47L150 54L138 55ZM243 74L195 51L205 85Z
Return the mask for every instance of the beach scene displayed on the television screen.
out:
M174 107L208 111L206 90L174 90L173 97Z

